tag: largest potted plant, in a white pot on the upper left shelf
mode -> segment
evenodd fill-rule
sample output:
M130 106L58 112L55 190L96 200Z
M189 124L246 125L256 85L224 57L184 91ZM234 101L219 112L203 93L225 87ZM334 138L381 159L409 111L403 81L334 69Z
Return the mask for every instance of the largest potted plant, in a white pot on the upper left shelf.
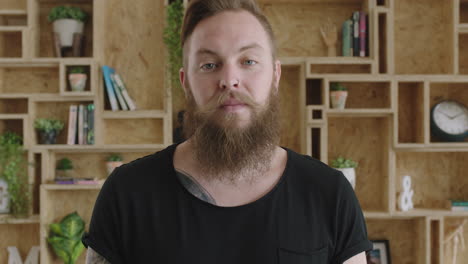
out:
M71 47L73 35L83 34L87 17L88 14L79 7L56 6L50 10L47 19L53 23L53 31L59 35L60 45Z

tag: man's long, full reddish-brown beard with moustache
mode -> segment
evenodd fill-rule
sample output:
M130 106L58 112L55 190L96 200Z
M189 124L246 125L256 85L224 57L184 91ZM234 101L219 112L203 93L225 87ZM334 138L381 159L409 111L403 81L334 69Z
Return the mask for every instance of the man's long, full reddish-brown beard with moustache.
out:
M274 87L264 106L230 91L200 107L188 90L184 136L193 145L193 155L204 172L203 177L236 184L240 180L253 182L267 172L280 138L279 98ZM250 120L244 127L236 126L239 118L236 113L220 109L231 96L250 110Z

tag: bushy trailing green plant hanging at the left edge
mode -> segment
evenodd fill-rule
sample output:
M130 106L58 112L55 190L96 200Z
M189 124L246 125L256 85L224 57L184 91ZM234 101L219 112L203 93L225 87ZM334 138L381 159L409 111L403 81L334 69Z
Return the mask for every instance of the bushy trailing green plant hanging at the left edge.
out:
M0 178L8 184L10 213L15 217L27 217L31 193L29 190L28 162L23 140L14 132L0 136Z

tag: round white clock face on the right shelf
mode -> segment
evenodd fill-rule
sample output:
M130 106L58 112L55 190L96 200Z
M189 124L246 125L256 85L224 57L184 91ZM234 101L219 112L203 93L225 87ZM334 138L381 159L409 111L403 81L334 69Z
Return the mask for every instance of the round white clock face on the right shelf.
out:
M447 134L462 135L468 131L468 109L455 101L443 101L436 105L432 118Z

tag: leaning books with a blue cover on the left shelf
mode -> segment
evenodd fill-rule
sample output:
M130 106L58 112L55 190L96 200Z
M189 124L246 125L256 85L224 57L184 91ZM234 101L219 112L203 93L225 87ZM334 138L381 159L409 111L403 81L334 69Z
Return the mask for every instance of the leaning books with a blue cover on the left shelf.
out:
M107 65L102 66L102 74L104 76L107 99L112 111L135 110L135 102L130 98L120 75Z

